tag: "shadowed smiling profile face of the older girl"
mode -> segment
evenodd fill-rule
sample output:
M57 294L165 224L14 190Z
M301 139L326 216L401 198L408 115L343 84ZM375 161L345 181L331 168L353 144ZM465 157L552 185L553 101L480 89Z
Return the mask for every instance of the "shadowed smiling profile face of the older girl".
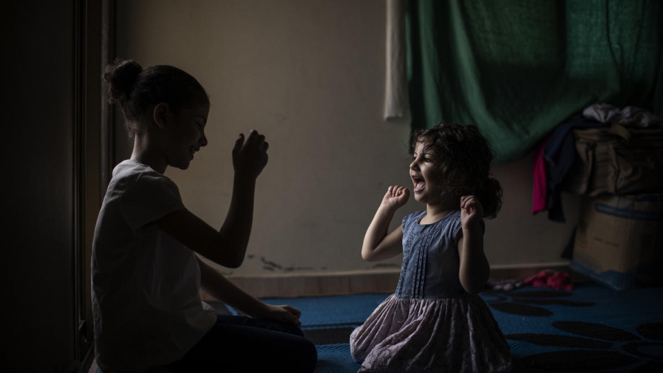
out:
M172 113L173 126L170 126L167 144L167 162L169 166L186 170L194 159L194 154L207 146L205 126L209 104L200 104L179 109Z

